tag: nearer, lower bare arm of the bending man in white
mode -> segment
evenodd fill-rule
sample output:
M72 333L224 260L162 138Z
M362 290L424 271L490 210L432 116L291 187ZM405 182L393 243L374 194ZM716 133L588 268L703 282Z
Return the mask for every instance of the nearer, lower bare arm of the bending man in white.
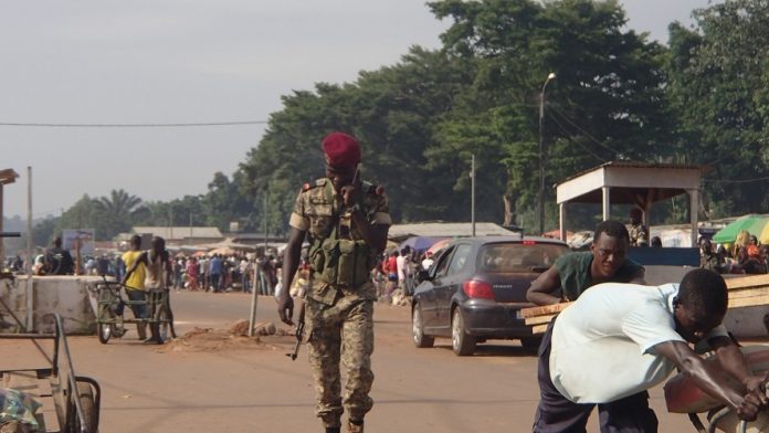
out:
M746 392L744 387L735 388L728 374L717 363L705 362L683 341L665 341L654 346L660 355L673 361L695 383L737 412L741 420L756 419L761 406L767 405L767 397L760 392Z

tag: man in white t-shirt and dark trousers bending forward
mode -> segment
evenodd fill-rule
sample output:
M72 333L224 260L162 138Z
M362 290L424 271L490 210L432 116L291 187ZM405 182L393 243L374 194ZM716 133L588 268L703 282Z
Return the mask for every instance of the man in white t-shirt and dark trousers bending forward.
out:
M752 376L721 325L720 275L694 270L681 285L605 283L586 291L551 324L540 347L534 432L584 432L598 404L601 432L656 432L645 393L677 367L708 394L752 420L769 405L766 376ZM688 344L707 342L709 365ZM726 380L737 379L739 386Z

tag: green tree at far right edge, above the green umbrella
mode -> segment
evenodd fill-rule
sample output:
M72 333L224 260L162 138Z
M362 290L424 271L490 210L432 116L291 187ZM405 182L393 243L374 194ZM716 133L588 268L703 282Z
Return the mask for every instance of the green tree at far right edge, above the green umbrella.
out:
M670 28L668 98L678 158L710 166L708 215L766 212L769 177L769 1L727 0ZM759 180L756 180L759 179Z

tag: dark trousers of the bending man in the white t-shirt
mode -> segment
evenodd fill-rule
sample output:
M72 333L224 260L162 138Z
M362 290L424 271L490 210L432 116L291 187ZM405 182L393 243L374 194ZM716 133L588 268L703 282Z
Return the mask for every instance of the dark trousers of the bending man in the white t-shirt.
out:
M590 412L596 404L571 402L552 384L550 379L550 338L554 319L539 347L537 381L539 405L534 419L535 433L584 433ZM591 366L583 366L591 368ZM649 408L649 392L642 391L610 403L598 404L602 433L655 433L657 419Z

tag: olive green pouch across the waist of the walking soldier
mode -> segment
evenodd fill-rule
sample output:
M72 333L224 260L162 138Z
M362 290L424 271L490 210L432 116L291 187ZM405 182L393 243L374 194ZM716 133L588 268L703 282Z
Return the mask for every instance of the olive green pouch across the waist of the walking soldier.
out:
M365 241L325 239L309 251L314 276L324 283L359 286L369 279L373 267L371 249Z

